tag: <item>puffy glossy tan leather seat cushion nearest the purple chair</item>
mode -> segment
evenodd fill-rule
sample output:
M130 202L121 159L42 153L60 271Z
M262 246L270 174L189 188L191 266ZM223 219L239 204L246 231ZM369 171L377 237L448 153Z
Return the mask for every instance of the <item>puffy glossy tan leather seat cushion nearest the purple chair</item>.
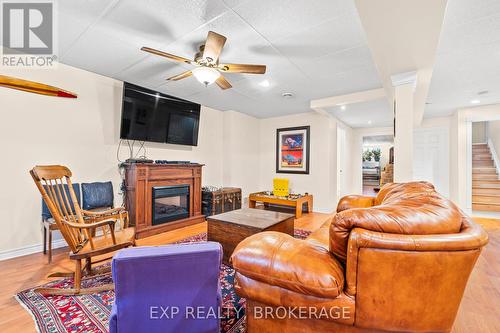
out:
M327 249L280 232L246 238L231 259L239 274L301 294L335 298L344 287L344 269Z

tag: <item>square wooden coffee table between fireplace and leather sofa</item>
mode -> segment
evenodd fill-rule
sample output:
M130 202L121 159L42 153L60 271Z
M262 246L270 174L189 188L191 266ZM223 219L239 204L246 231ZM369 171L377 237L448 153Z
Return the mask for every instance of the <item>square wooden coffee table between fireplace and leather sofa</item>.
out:
M226 265L235 247L248 236L262 231L279 231L293 236L292 214L243 208L209 216L207 221L208 240L222 244L222 261Z

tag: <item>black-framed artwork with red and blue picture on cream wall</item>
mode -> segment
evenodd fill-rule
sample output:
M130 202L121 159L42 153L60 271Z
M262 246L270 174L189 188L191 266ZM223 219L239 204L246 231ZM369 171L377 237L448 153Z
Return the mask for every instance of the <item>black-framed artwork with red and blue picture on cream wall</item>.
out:
M276 172L309 174L309 126L276 130Z

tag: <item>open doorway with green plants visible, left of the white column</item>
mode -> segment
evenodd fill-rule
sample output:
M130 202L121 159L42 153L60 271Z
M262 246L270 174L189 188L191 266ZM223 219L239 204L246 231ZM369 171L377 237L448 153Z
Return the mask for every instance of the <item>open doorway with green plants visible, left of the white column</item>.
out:
M394 136L363 137L363 194L376 196L380 187L394 180Z

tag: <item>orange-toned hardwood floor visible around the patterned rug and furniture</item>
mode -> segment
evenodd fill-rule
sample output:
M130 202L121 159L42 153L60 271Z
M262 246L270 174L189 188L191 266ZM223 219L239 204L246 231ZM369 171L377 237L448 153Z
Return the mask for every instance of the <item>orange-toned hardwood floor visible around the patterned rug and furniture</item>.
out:
M295 227L316 230L331 215L305 214L295 221ZM479 257L469 279L462 304L455 321L454 333L500 332L500 220L476 218L489 234L490 242ZM166 232L138 241L139 245L160 245L206 232L206 223ZM0 332L36 332L33 319L22 309L13 295L22 289L43 284L51 272L69 271L73 268L67 259L67 249L54 251L53 263L46 264L46 257L32 254L0 262Z

